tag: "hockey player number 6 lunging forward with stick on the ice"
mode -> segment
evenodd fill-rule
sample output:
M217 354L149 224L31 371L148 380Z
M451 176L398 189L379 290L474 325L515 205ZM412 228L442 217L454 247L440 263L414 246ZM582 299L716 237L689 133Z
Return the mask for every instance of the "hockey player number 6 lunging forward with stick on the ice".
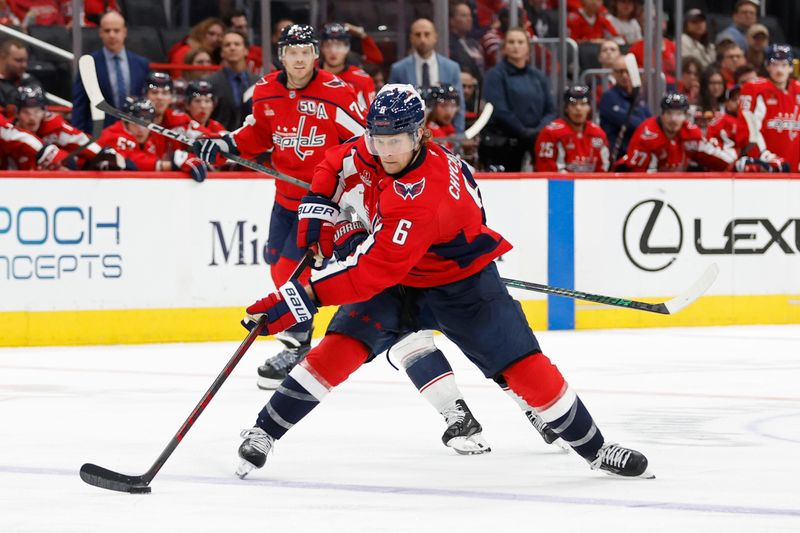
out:
M242 433L237 474L262 467L275 440L359 366L403 335L442 331L489 378L507 383L592 468L653 477L635 450L606 442L559 370L542 354L494 263L511 245L485 225L469 169L428 142L422 99L390 85L373 101L367 134L329 150L300 205L301 247L328 238L320 229L348 181L360 180L372 233L346 261L310 282L291 280L247 308L269 334L340 305L322 342L289 373ZM379 327L376 326L379 324Z

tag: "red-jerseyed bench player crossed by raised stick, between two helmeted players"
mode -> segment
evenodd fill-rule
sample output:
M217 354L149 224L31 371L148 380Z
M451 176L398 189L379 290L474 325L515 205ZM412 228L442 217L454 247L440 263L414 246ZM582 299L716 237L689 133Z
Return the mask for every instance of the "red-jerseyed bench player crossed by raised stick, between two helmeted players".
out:
M189 137L196 137L192 133L192 119L183 111L172 109L172 100L175 97L172 78L166 72L150 72L144 81L144 97L153 103L156 115L153 122L174 130ZM184 146L163 135L154 135L151 142L156 145L159 155L171 158L175 151L184 151Z

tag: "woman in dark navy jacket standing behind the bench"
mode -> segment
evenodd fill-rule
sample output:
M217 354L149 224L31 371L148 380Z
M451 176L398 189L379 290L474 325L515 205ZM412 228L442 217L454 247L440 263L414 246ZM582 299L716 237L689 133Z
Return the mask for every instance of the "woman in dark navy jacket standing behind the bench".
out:
M528 33L510 28L503 59L483 80L483 98L494 106L478 148L483 168L519 172L539 131L556 118L550 81L530 56Z

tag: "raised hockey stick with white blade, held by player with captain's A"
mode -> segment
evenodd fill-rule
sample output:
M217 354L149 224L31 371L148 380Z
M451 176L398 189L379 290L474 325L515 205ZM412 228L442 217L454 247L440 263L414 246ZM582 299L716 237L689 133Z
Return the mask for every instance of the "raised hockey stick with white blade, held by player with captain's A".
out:
M181 144L185 144L187 146L191 146L194 144L194 139L183 135L182 133L178 133L177 131L173 131L171 129L165 128L154 122L148 122L144 119L139 117L135 117L129 113L121 111L111 104L109 104L105 99L103 99L103 93L100 92L100 85L97 81L97 71L94 67L94 58L89 55L81 56L80 60L78 61L78 67L81 72L81 79L83 80L83 86L86 89L86 94L89 95L89 101L91 102L92 107L96 107L97 109L104 111L105 113L111 115L112 117L117 117L121 120L125 120L127 122L132 122L134 124L138 124L148 130L158 133L159 135L163 135L169 139L178 141ZM301 181L297 178L293 178L291 176L287 176L281 172L276 172L271 170L264 165L259 165L255 161L250 161L249 159L245 159L238 155L230 154L227 152L222 152L222 156L226 159L233 161L243 167L249 168L250 170L255 170L256 172L261 172L262 174L269 174L270 176L279 179L281 181L285 181L286 183L291 183L292 185L297 185L298 187L302 187L303 189L308 189L311 187L311 184Z

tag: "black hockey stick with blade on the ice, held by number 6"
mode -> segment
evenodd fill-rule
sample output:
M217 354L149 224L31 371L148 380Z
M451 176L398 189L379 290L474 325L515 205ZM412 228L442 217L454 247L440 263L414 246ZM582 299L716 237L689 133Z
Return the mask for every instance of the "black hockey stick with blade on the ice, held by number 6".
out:
M306 253L306 255L303 256L303 259L300 261L300 264L298 264L297 268L295 268L290 279L296 279L299 277L306 267L311 264L312 260L313 255L311 253ZM222 384L225 382L225 380L228 379L228 376L230 376L231 372L233 372L234 367L236 367L242 357L244 357L247 349L250 348L250 345L253 344L253 341L256 339L259 333L261 333L265 326L266 315L262 316L256 323L255 327L250 330L250 333L247 334L247 337L244 339L244 341L242 341L242 344L240 344L234 352L233 357L230 358L225 365L225 368L223 368L222 372L219 373L217 379L214 380L214 383L211 384L211 387L209 387L203 397L200 398L200 401L189 415L189 418L186 419L175 436L172 437L172 440L169 441L167 447L164 448L164 451L161 452L161 455L158 456L156 462L153 463L153 466L151 466L147 472L140 476L129 476L114 472L113 470L108 470L102 466L86 463L81 467L81 479L89 485L94 485L95 487L100 487L101 489L129 492L131 494L149 493L150 482L153 481L153 478L156 476L156 474L158 474L158 471L161 470L161 467L167 462L169 456L172 455L172 452L174 452L175 448L178 447L178 444L180 444L180 442L192 428L194 423L205 410L206 406L208 406L211 399L214 397L217 391L219 391L220 387L222 387Z

